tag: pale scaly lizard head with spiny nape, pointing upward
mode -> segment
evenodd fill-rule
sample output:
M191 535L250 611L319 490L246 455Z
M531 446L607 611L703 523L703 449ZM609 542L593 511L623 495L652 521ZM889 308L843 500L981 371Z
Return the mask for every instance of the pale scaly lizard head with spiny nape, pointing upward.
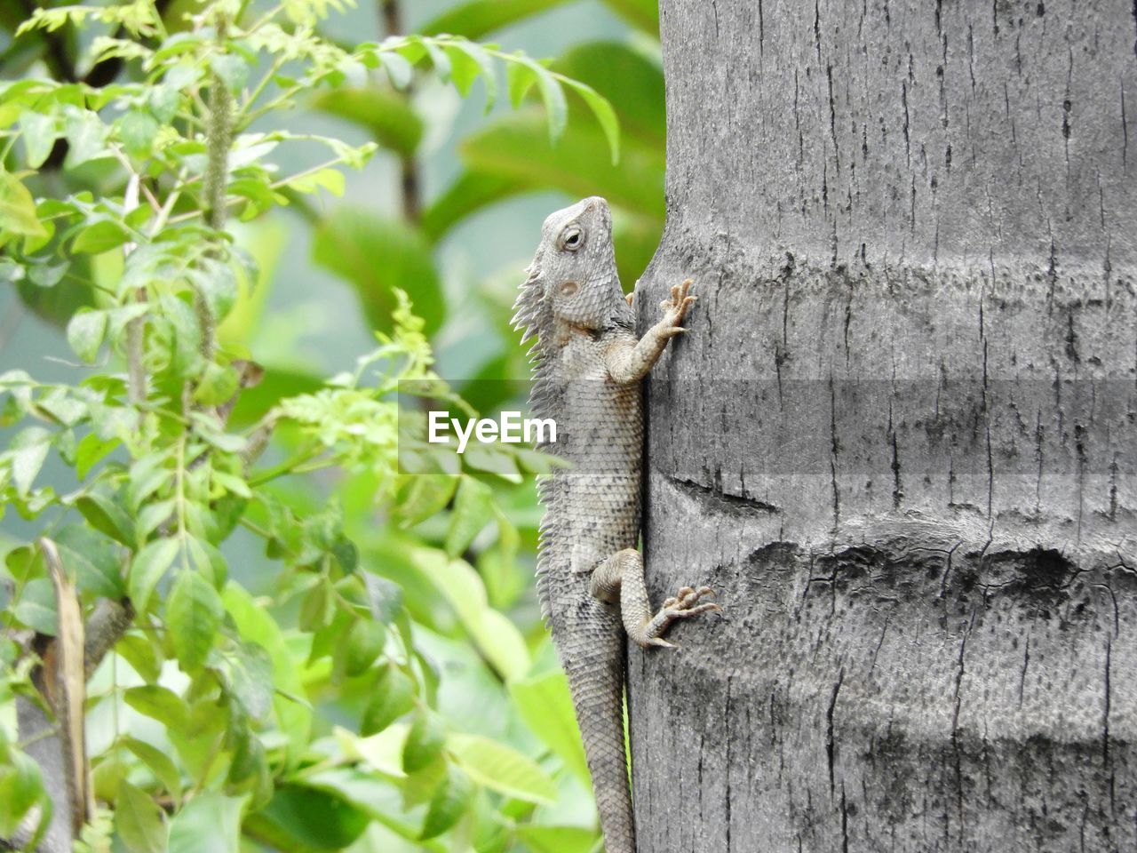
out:
M549 215L514 307L514 323L526 329L525 338L547 338L547 325L600 331L613 322L630 323L607 201L594 196Z

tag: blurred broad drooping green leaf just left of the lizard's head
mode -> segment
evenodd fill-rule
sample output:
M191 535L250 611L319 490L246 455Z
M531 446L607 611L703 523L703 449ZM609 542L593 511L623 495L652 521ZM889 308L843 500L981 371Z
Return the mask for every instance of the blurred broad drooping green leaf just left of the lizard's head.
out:
M431 334L442 324L446 304L430 245L420 231L364 210L337 208L313 237L313 260L356 289L367 323L392 330L396 288L407 291Z

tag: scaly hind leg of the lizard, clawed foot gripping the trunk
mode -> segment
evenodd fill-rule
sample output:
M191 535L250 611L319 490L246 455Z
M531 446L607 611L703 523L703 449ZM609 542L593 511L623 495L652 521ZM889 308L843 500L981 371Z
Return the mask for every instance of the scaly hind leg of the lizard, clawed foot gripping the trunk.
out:
M658 612L653 612L644 578L644 557L634 548L616 552L592 571L592 595L604 602L620 602L620 616L624 630L638 645L674 647L663 639L663 633L672 622L690 619L699 613L719 610L717 604L700 603L705 596L714 595L711 587L683 587L663 603Z

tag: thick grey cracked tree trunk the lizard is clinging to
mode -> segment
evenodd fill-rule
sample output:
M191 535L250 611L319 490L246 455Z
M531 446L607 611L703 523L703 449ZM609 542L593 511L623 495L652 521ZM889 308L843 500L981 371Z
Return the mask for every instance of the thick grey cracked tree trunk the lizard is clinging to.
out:
M661 26L639 850L1137 848L1132 0Z

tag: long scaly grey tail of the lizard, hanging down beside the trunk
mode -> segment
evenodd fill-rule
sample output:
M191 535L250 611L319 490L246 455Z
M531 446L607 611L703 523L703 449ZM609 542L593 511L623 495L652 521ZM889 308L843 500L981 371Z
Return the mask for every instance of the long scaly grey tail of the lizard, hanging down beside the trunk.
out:
M589 605L598 611L605 608L595 599ZM607 618L587 620L570 631L573 648L565 649L563 663L592 777L604 848L606 853L636 853L624 752L624 637L611 611L604 616Z

